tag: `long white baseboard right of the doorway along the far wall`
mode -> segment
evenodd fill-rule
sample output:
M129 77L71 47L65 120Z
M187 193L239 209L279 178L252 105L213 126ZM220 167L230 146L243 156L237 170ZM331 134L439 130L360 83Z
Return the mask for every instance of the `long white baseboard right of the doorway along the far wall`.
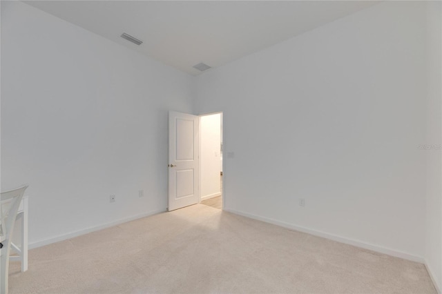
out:
M378 253L383 253L383 254L387 254L387 255L391 255L394 257L400 257L403 259L407 259L407 260L411 260L412 262L419 262L421 264L425 264L425 259L421 256L417 256L417 255L412 255L409 253L405 253L403 251L397 251L391 248L385 248L383 246L378 246L378 245L374 245L374 244L369 244L369 243L365 243L359 240L355 240L355 239L350 239L347 237L341 237L338 235L333 235L333 234L329 234L329 233L325 233L322 231L317 231L311 228L305 228L303 226L296 226L294 224L289 224L287 222L281 222L278 221L276 219L271 219L269 217L259 217L258 215L251 215L250 213L243 213L241 211L238 210L234 210L234 209L229 209L229 208L224 208L225 211L228 211L229 213L234 213L236 215L242 215L244 217L249 217L251 219L257 219L260 220L262 222L267 222L269 224L276 224L277 226L282 226L284 228L289 228L290 230L294 230L294 231L299 231L302 233L307 233L310 235L315 235L318 237L324 237L326 239L331 239L333 241L336 242L340 242L340 243L344 243L344 244L349 244L349 245L353 245L353 246L357 246L357 247L361 247L361 248L365 248L371 251L376 251Z

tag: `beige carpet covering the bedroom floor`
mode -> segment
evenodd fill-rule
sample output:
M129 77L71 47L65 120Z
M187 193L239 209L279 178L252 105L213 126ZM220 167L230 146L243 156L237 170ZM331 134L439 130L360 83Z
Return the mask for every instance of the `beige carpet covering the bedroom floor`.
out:
M30 251L10 293L436 293L422 264L197 204Z

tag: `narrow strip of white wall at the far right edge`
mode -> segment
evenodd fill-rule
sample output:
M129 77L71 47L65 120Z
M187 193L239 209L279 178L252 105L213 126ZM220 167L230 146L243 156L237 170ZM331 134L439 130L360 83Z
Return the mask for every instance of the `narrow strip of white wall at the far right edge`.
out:
M427 2L427 210L425 263L434 284L442 290L442 190L441 190L441 26L440 1Z

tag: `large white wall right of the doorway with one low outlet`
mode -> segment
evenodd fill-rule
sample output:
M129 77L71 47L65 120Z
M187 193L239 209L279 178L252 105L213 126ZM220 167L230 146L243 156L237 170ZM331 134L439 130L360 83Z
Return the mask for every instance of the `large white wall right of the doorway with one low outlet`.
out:
M224 115L225 208L423 261L424 3L380 3L197 90L197 113Z

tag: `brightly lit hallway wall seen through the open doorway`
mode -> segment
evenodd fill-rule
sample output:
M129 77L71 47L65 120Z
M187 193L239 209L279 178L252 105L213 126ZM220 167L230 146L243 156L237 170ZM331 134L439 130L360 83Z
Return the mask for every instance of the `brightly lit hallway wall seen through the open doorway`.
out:
M200 117L201 199L221 195L221 114Z

